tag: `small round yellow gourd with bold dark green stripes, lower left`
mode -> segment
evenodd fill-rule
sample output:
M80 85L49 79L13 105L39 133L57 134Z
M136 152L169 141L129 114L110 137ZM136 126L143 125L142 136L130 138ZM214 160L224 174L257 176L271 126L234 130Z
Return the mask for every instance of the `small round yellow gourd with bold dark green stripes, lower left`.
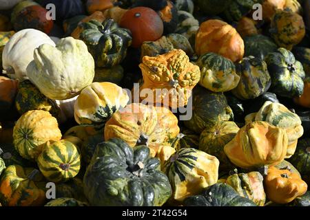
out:
M38 157L38 166L46 179L53 182L68 181L79 173L80 155L71 142L48 142Z

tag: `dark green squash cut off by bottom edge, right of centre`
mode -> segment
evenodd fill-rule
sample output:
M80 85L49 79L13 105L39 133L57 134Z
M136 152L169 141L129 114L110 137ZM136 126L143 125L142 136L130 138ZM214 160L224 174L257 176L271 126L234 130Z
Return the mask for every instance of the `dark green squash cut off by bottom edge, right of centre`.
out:
M234 188L228 184L214 184L199 195L188 197L184 206L256 206L256 204L241 197Z

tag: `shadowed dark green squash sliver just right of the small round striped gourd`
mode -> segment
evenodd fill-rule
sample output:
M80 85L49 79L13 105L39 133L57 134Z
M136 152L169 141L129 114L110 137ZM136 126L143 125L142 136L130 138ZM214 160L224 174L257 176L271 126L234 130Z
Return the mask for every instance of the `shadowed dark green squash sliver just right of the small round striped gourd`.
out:
M92 135L87 137L82 144L82 159L86 164L90 164L90 160L92 159L92 155L94 155L94 151L96 150L97 144L104 142L105 138L102 133L98 135Z

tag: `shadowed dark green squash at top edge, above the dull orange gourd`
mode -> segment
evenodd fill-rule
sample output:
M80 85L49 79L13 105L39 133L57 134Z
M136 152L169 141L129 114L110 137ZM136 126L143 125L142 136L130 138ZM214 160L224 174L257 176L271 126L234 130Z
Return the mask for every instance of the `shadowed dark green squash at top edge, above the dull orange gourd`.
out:
M227 21L239 21L243 16L249 14L253 10L253 5L262 3L263 0L234 0L230 1L229 7L224 14Z

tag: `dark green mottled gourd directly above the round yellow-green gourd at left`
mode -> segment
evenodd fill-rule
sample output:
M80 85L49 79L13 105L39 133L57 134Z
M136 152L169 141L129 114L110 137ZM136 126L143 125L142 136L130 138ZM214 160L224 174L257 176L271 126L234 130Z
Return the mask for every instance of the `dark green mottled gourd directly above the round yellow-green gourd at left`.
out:
M19 83L15 107L21 115L30 110L43 110L50 112L55 118L60 116L60 109L56 101L41 94L41 91L30 80L23 80Z

